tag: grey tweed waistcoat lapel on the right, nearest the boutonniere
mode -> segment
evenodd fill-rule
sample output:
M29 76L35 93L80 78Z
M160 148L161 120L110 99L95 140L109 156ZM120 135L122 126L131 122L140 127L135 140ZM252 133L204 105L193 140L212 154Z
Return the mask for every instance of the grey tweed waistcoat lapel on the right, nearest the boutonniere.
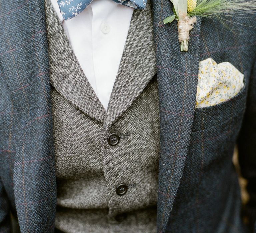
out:
M115 84L110 96L105 126L109 127L140 95L156 74L153 19L150 2L135 10Z

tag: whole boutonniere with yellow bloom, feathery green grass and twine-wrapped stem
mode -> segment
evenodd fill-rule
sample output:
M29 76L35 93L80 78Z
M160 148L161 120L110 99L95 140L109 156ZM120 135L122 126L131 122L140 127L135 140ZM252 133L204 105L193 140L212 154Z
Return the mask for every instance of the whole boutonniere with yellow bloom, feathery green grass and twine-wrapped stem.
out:
M196 16L215 17L225 24L225 16L255 13L256 0L170 0L174 15L164 19L164 24L178 21L180 51L188 51L189 32ZM254 29L255 30L255 29Z

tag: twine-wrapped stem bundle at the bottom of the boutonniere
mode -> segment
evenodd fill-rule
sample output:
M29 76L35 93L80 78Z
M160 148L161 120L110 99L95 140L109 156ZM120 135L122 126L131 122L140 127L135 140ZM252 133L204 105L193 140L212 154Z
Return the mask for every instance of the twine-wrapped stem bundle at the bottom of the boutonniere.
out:
M196 17L181 17L178 21L180 51L188 51L189 31L193 29Z

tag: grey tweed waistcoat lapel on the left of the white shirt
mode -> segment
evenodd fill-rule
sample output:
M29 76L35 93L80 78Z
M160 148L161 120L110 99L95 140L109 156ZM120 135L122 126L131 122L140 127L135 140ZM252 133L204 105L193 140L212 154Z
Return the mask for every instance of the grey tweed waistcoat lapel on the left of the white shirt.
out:
M106 111L85 77L50 1L46 1L46 11L49 12L46 14L49 63L53 67L50 70L51 84L69 102L103 123ZM61 62L54 62L56 59Z

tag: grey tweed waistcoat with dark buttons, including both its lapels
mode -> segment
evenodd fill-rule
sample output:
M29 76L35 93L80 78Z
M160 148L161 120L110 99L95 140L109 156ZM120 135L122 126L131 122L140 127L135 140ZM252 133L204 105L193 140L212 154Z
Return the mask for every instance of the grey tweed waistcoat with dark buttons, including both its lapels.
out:
M50 0L46 21L56 227L65 232L156 232L156 208L151 207L157 204L159 107L150 5L134 11L107 111L84 76ZM107 143L112 132L120 136L114 147ZM120 183L128 185L124 196L115 192ZM120 224L114 217L123 212L129 214Z

